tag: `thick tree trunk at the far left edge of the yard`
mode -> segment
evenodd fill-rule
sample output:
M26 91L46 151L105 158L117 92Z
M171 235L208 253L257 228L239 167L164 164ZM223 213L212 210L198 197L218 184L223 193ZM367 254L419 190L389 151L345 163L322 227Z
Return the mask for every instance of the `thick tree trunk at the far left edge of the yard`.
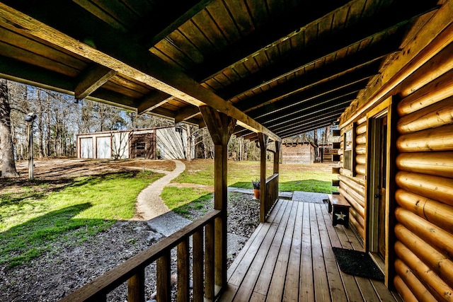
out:
M0 79L0 149L2 153L1 176L17 177L14 163L14 147L11 139L11 108L8 99L8 86L5 79Z

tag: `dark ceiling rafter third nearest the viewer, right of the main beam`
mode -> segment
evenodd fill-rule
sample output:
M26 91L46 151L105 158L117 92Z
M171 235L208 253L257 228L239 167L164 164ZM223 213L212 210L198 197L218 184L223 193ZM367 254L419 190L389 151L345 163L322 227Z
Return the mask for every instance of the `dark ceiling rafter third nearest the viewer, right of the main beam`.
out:
M401 37L406 33L405 25L411 23L420 13L425 12L425 8L414 11L418 6L411 7L412 9L404 10L401 16L394 13L391 14L392 17L374 16L374 18L367 19L367 23L345 28L342 33L333 35L330 39L314 43L304 50L294 52L292 55L287 55L284 59L276 60L267 68L260 69L260 71L251 76L232 83L222 89L222 91L218 91L218 93L228 100L245 91L265 86L270 82L292 74L328 54L342 50L345 47L358 45L364 40L380 39L388 35L400 35ZM297 67L295 68L294 66ZM199 67L197 66L197 68Z

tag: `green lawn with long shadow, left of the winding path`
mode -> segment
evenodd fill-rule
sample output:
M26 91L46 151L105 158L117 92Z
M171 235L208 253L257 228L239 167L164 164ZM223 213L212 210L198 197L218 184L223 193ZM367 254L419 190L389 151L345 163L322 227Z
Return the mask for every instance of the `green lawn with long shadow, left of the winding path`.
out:
M21 265L57 238L82 242L132 218L139 192L160 177L128 172L8 186L0 191L0 264Z

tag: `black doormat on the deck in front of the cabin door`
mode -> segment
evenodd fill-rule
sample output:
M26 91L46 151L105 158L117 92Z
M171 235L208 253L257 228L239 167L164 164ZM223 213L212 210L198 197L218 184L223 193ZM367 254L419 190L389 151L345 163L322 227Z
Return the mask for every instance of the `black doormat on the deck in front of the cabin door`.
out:
M384 274L367 252L332 248L340 269L346 274L384 281Z

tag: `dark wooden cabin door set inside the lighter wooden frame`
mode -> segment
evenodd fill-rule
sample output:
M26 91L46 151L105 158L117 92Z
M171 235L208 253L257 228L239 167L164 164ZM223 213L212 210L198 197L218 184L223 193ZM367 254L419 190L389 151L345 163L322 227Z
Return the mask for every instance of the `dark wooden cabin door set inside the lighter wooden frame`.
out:
M372 117L369 121L369 252L386 259L386 171L387 171L387 115Z

